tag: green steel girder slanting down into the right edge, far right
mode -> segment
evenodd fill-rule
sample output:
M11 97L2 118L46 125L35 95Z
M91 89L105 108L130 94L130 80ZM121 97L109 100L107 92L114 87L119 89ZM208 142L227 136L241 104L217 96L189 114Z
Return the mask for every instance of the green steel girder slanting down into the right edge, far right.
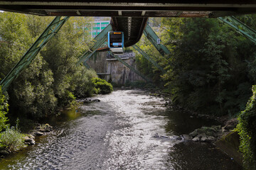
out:
M256 31L246 26L245 23L239 21L235 16L218 17L218 19L223 23L228 24L228 26L235 28L235 30L238 30L238 33L244 35L256 44Z

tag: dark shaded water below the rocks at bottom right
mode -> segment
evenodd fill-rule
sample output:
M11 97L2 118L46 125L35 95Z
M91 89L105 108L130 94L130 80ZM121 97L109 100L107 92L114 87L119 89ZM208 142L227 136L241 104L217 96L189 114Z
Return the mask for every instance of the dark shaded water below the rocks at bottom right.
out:
M208 143L181 142L169 151L166 166L173 169L239 170L242 169L227 155Z

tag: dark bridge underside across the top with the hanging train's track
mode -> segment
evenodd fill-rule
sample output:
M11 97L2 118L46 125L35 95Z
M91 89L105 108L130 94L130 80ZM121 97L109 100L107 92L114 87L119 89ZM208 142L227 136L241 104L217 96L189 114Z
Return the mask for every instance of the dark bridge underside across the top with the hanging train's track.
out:
M125 47L139 41L148 17L218 17L256 13L256 0L0 0L0 10L39 16L112 16Z

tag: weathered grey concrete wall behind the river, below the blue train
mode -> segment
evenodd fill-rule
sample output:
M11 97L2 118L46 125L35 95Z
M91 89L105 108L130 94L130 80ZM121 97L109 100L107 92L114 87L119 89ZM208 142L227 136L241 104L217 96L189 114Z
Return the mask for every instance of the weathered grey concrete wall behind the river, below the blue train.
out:
M90 60L87 61L87 64L95 69L99 73L99 77L109 81L112 79L112 82L116 84L125 84L127 80L129 81L143 81L139 75L132 72L128 67L125 67L124 64L118 60L107 56L108 52L97 52L96 55L92 56ZM137 69L135 64L134 53L129 52L126 55L119 56L122 57L124 62L127 62L129 65ZM105 74L105 75L102 75Z

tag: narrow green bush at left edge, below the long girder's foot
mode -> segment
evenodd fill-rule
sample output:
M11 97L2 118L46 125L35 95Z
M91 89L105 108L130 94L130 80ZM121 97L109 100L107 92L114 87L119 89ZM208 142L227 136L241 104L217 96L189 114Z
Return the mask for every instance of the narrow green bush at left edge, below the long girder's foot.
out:
M6 122L8 119L6 118L6 113L8 112L8 103L6 103L5 96L1 92L0 86L0 132L7 128Z

